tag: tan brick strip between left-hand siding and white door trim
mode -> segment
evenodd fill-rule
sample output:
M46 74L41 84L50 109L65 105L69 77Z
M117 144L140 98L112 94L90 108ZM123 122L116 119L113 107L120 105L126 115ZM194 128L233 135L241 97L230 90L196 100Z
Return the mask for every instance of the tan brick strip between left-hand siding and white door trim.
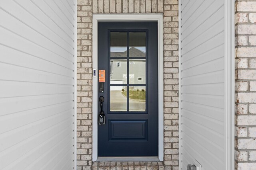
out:
M92 167L92 0L77 6L77 170Z

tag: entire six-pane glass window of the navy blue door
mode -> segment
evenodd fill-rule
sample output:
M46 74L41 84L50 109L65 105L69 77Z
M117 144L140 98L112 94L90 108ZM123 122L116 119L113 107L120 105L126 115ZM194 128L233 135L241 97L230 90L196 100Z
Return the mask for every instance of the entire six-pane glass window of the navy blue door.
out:
M110 84L112 84L110 111L146 111L146 86L135 85L146 84L146 32L130 32L129 48L127 48L127 35L127 32L110 33ZM129 83L129 92L127 92L127 83ZM113 86L113 84L124 85ZM129 108L127 108L127 96L129 96Z

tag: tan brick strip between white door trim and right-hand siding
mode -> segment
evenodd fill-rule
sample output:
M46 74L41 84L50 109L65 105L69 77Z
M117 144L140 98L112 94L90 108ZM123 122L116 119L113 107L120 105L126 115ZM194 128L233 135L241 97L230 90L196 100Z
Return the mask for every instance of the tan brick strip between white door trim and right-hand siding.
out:
M164 0L164 165L178 170L178 0Z

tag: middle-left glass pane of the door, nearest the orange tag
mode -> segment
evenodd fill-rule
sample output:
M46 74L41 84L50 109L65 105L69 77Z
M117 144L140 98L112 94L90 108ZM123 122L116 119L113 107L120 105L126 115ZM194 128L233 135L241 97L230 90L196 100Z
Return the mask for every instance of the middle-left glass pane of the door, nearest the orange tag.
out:
M127 60L110 59L110 84L127 83Z

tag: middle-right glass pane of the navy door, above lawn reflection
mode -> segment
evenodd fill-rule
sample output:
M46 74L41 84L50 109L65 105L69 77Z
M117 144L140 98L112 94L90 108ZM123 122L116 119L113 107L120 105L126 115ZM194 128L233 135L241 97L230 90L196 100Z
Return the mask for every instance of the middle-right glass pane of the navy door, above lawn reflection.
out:
M146 84L146 59L129 60L129 84Z

